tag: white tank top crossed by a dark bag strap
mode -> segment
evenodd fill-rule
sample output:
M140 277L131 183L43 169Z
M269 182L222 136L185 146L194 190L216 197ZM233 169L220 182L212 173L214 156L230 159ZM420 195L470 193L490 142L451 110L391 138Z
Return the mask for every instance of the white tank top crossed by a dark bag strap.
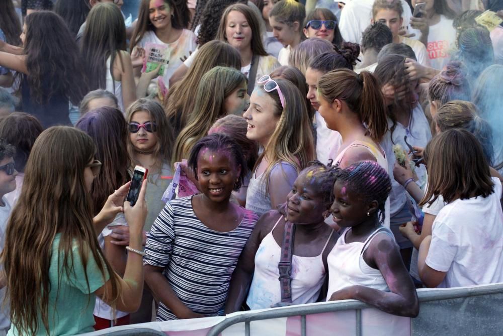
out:
M264 238L255 255L255 273L251 281L246 304L250 309L270 308L281 301L281 285L278 263L281 257L281 246L274 240L273 231L283 219L281 216L273 230ZM316 302L325 280L325 266L322 255L333 230L330 232L321 253L315 257L292 255L292 302L304 304Z

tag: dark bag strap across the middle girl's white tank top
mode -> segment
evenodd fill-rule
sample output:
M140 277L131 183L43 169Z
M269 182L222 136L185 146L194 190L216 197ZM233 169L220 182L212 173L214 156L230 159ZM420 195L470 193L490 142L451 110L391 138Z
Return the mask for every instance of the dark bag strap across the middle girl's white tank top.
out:
M283 244L281 244L281 258L278 264L280 273L281 302L292 302L292 251L295 237L295 225L285 222Z

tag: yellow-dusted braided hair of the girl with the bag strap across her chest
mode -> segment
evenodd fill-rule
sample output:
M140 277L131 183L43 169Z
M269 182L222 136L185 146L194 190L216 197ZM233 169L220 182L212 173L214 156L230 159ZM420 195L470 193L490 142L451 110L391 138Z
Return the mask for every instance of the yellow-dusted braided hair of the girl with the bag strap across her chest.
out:
M318 160L309 162L309 166L299 174L306 174L309 184L323 196L323 205L329 207L333 202L333 184L336 183L337 174L341 169L330 163L324 165Z

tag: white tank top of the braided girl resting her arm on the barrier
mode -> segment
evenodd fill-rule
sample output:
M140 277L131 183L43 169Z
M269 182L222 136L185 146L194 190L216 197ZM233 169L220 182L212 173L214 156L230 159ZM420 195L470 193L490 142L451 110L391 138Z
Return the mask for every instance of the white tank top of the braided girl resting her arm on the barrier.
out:
M393 234L386 228L374 231L365 242L346 243L346 229L337 240L336 245L328 254L328 292L327 300L333 292L352 285L362 285L378 290L389 291L388 285L381 272L367 265L363 260L363 253L367 250L372 239L379 233Z

